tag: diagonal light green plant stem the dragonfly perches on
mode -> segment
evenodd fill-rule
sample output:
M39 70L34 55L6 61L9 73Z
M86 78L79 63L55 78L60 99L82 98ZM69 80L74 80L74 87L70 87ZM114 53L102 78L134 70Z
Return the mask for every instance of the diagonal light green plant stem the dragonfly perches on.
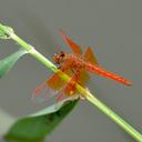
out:
M11 32L11 30L7 30L7 27L0 24L0 30L6 32L8 36L11 37L17 43L19 43L23 49L26 49L32 57L39 60L42 64L48 67L53 72L60 71L52 62L50 62L47 58L44 58L41 53L39 53L32 45L24 42L21 38L17 34ZM67 82L70 81L70 77L65 73L61 73L60 75ZM83 94L93 105L100 109L104 114L106 114L111 120L113 120L116 124L119 124L125 132L128 132L133 139L139 142L142 142L142 134L139 133L134 128L132 128L126 121L120 118L115 112L113 112L110 108L108 108L103 102L98 100L94 95L90 93L87 89L82 88L81 85L77 84L78 91Z

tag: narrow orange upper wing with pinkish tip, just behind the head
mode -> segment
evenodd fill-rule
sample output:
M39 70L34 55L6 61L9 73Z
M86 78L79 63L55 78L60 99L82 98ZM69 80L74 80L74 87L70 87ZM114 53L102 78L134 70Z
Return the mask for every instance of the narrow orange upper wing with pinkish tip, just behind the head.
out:
M72 49L74 53L81 54L81 48L73 42L65 33L64 31L60 30L60 34L63 39L63 41Z

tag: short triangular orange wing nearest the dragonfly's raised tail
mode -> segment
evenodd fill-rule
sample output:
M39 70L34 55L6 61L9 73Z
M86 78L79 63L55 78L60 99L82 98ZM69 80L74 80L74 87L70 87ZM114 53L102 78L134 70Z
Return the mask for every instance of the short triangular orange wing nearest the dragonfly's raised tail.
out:
M85 52L84 52L84 58L85 58L85 60L89 61L89 62L92 62L92 63L94 63L94 64L99 64L99 63L98 63L98 60L97 60L97 58L95 58L95 55L94 55L94 53L93 53L93 51L92 51L92 49L91 49L91 47L89 47L89 48L85 50Z

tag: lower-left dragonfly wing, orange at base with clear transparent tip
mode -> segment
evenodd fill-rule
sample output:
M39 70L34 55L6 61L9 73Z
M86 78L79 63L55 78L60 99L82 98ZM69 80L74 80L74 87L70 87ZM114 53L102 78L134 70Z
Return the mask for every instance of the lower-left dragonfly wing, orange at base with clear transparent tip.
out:
M71 75L70 62L64 63L60 70ZM32 99L37 102L43 102L50 98L58 95L60 90L65 85L65 81L60 78L61 71L54 73L47 81L37 87L32 93Z

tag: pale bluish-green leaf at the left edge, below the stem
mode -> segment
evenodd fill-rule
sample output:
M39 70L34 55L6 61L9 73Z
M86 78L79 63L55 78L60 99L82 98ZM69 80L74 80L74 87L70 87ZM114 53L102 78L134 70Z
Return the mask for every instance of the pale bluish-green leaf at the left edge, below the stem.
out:
M10 69L14 65L14 63L23 55L26 54L26 50L19 50L6 59L0 61L0 78L2 78L6 73L10 71Z

